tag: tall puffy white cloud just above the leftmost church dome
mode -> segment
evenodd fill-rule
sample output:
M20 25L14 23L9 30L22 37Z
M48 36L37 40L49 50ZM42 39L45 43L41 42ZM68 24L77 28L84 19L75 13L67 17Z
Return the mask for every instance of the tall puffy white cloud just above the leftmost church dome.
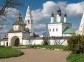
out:
M44 16L49 16L52 12L56 11L56 3L53 1L47 1L43 4L42 12Z

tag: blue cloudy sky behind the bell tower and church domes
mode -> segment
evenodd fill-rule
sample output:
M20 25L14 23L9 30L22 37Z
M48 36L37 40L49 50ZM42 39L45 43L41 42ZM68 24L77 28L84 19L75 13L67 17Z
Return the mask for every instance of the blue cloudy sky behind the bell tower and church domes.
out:
M35 25L33 28L36 33L46 31L46 24L50 23L51 13L56 14L58 8L62 10L63 15L67 13L67 22L72 23L73 29L77 30L84 11L83 0L21 0L23 1L25 1L24 7L6 9L8 11L7 20L14 23L18 11L21 11L24 21L27 7L30 6ZM9 28L11 27L8 25L4 27L5 30Z

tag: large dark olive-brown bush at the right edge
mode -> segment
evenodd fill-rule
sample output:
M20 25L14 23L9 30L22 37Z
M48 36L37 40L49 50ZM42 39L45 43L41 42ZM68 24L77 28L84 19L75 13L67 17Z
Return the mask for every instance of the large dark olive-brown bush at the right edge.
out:
M68 46L72 53L84 53L84 36L72 36L68 38Z

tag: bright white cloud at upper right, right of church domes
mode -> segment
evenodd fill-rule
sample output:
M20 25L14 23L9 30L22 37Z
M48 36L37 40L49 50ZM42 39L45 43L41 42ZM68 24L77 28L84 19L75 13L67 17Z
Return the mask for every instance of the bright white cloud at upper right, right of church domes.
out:
M82 3L84 2L67 4L66 11L68 12L68 15L78 16L79 14L82 14L84 6Z

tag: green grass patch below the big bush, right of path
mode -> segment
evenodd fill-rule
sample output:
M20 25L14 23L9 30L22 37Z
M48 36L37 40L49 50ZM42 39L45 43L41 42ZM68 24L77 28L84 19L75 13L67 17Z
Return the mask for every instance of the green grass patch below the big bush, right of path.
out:
M84 62L84 54L70 54L67 57L67 62Z

